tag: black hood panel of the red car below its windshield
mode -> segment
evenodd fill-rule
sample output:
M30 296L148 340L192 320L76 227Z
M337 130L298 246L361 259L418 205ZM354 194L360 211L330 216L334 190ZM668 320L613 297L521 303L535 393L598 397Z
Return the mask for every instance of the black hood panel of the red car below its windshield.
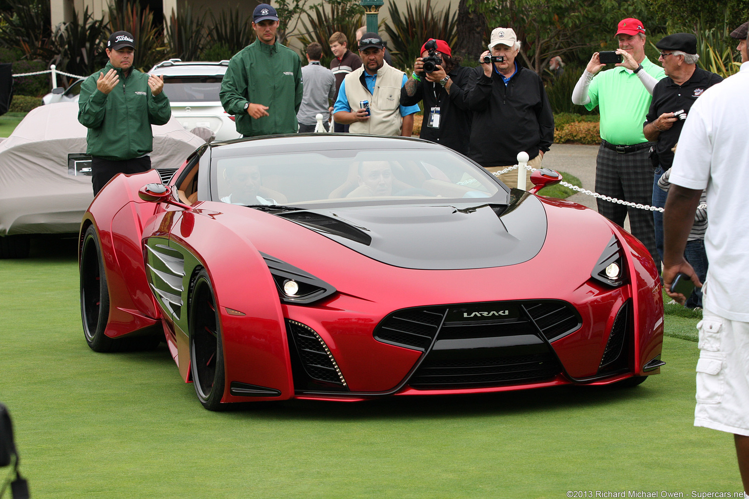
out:
M543 204L518 190L513 190L509 205L347 206L278 216L373 260L406 269L516 265L541 251L547 232Z

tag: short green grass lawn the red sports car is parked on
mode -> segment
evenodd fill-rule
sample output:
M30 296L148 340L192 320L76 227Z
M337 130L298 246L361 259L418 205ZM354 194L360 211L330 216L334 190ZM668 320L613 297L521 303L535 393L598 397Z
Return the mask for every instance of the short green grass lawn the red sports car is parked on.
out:
M0 260L0 282L0 400L12 411L33 498L741 489L733 437L692 426L693 341L666 337L662 373L631 389L291 401L216 413L181 382L166 347L88 349L73 241L34 242L30 259ZM696 322L666 317L669 334Z

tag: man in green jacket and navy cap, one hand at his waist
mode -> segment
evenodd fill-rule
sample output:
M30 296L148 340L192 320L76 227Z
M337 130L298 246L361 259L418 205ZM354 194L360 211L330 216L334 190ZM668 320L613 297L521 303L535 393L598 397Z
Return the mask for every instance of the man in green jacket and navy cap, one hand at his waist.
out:
M236 116L245 137L296 133L302 103L302 64L296 52L276 42L276 9L260 4L252 13L257 40L237 52L221 82L221 104Z

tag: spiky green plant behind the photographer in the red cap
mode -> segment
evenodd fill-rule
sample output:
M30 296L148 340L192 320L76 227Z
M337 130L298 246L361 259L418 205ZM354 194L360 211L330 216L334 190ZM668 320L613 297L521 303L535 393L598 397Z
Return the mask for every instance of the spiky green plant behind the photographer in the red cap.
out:
M449 6L434 12L431 0L426 0L425 5L421 0L416 5L409 1L403 16L398 5L390 2L388 13L390 22L385 24L385 32L392 41L393 64L401 69L411 67L413 61L421 57L421 46L429 38L445 40L449 46L454 46L458 40L457 14L451 13Z

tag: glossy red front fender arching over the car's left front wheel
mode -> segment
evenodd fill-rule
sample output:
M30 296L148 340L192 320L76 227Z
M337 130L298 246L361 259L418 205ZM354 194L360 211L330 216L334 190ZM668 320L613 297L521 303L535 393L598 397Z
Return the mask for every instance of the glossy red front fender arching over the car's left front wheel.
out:
M185 278L207 270L219 310L226 388L222 402L288 399L294 395L286 327L276 284L263 257L246 237L216 220L221 213L195 208L183 213L169 240L184 255ZM184 302L189 307L189 282ZM189 310L175 331L188 331ZM189 341L178 341L179 358ZM231 383L271 388L278 397L240 397Z

